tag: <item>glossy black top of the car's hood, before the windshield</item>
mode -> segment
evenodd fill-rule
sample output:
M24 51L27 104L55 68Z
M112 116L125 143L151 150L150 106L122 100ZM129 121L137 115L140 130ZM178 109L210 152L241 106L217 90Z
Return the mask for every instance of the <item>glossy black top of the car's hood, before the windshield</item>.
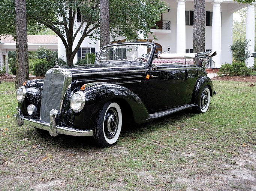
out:
M90 76L90 75L114 75L120 73L130 73L130 72L145 72L146 65L139 62L102 62L89 65L74 65L65 66L63 68L68 69L73 78L79 76Z

